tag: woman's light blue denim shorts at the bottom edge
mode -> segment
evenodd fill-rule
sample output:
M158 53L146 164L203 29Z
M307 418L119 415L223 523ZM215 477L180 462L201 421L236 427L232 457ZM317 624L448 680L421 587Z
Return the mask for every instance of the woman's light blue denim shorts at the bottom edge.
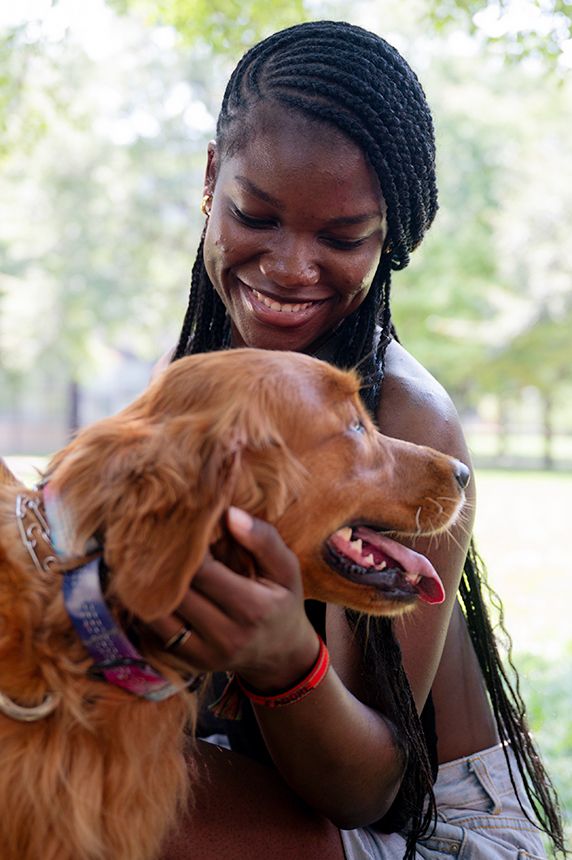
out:
M516 762L512 770L533 818ZM540 831L519 806L500 744L441 765L435 799L435 831L417 843L418 860L545 860ZM405 853L400 833L369 827L340 832L347 860L402 860Z

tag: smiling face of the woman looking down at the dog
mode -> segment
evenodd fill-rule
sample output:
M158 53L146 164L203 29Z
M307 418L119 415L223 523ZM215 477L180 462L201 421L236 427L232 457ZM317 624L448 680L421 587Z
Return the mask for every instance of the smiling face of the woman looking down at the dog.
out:
M259 108L233 155L209 146L204 259L233 345L308 350L364 300L386 207L361 150L335 129Z

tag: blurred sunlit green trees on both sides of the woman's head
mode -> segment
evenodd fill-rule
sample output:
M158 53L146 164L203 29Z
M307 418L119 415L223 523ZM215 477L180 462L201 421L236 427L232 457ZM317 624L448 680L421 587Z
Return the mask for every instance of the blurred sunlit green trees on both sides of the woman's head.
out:
M0 35L0 400L38 369L74 395L105 345L151 361L173 343L228 54L294 19L340 13L326 0L252 0L237 15L222 0L90 0L86 16L96 5L91 34L48 16ZM502 419L534 389L550 464L555 425L572 425L570 5L530 19L529 35L558 24L558 61L523 48L508 65L520 31L491 44L485 7L388 2L380 17L362 0L346 16L397 43L435 113L441 210L394 277L400 335L463 411L488 394Z

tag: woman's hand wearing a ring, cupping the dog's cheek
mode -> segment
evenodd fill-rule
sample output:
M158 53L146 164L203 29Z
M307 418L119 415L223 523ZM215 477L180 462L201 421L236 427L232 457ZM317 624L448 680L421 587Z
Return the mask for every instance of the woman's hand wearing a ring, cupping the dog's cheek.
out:
M187 626L191 636L175 652L195 669L234 670L264 692L286 689L309 671L319 647L304 611L298 559L269 523L230 508L227 524L254 557L256 578L209 553L175 613L152 627L167 641Z

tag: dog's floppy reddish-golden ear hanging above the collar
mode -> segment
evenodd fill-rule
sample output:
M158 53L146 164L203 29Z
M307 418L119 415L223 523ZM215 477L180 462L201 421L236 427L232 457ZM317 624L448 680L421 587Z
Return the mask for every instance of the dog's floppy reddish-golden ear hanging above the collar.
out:
M109 419L60 455L50 485L74 551L100 536L110 594L150 621L180 603L217 536L236 462L232 436L209 436L191 417L151 426Z

